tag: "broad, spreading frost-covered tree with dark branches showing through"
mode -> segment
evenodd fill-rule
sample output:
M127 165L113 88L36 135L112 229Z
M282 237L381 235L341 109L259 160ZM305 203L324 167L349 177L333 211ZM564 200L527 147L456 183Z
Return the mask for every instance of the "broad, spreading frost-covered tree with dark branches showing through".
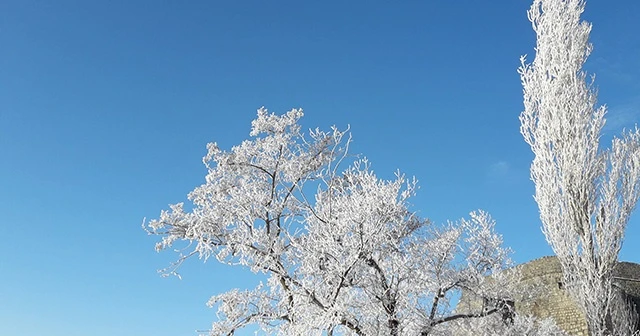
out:
M211 298L211 335L248 325L281 335L433 335L505 313L508 279L498 272L509 250L487 213L445 225L420 218L409 208L415 180L380 179L366 159L347 164L348 133L303 134L300 117L263 108L249 140L230 151L209 144L193 204L145 226L162 236L158 250L179 245L168 274L191 256L264 274L255 289ZM456 312L462 289L493 304Z

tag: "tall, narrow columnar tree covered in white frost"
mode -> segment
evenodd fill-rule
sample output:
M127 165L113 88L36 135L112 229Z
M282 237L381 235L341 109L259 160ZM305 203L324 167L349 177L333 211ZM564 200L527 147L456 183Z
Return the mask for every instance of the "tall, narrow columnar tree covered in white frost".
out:
M531 178L547 241L592 335L628 335L635 319L613 269L640 191L640 132L600 148L604 106L582 67L591 53L584 0L534 0L531 64L522 58L521 132L535 158Z

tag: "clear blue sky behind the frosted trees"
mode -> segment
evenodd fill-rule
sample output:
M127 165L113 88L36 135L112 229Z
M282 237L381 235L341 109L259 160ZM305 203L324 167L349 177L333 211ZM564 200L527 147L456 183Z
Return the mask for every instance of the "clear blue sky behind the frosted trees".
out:
M195 335L250 273L157 269L141 229L203 182L207 142L260 106L351 125L382 177L420 180L436 222L481 208L517 262L551 253L519 134L525 0L0 3L0 334ZM605 138L640 115L640 2L591 0ZM640 262L640 218L621 258Z

